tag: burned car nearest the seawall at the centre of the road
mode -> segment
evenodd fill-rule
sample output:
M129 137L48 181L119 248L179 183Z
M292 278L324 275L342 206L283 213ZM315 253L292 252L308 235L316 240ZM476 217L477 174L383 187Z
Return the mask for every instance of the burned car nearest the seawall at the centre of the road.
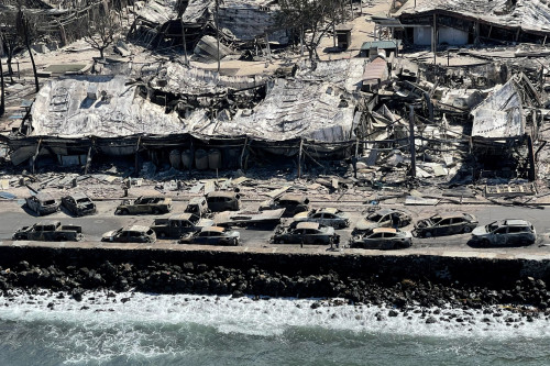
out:
M318 222L298 222L292 226L277 226L272 236L275 244L338 244L340 235L334 228L321 225Z

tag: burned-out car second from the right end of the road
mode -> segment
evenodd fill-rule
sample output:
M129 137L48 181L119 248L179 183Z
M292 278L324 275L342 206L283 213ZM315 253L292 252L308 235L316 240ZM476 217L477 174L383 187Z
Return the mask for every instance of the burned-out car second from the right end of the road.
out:
M413 234L419 237L431 237L471 233L477 223L477 219L470 213L435 214L418 221Z

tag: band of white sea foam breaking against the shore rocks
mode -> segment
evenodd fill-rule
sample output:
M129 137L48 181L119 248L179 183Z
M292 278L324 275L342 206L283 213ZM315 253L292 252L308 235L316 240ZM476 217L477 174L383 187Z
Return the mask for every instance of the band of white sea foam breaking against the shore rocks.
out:
M312 309L314 302L321 306ZM50 309L48 304L53 304ZM497 308L495 308L497 309ZM432 312L436 309L424 309ZM180 326L198 324L220 333L248 335L280 335L289 328L321 328L329 330L393 333L416 336L490 336L490 337L550 337L549 321L526 318L501 309L501 317L483 314L481 310L442 309L440 314L402 312L388 317L388 309L370 306L330 306L315 299L233 299L216 296L87 292L77 302L56 293L35 296L24 292L16 298L0 297L0 319L12 321L42 321L78 324L102 333L105 343L117 340L124 331L136 326ZM455 318L449 319L449 314ZM382 315L382 320L377 317ZM427 324L428 317L437 322ZM462 322L457 321L461 319ZM507 322L509 319L514 322ZM543 317L542 317L543 318ZM490 319L487 324L483 319ZM82 345L86 346L86 345Z

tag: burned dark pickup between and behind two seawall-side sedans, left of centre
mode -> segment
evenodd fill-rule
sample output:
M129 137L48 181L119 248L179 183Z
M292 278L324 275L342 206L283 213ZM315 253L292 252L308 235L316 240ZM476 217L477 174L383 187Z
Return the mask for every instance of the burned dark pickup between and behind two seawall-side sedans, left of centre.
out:
M168 219L155 219L151 229L153 229L158 237L179 239L186 233L194 233L207 226L213 226L213 221L200 219L195 213L180 213L172 215Z

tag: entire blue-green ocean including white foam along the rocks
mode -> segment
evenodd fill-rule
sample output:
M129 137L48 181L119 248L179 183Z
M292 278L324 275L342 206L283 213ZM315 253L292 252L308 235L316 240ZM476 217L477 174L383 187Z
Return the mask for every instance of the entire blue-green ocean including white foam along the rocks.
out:
M81 302L58 293L0 297L0 365L550 365L546 320L443 309L465 321L427 324L421 313L392 318L376 307L321 300L312 309L314 302L105 292L87 292ZM517 321L507 325L509 318Z

